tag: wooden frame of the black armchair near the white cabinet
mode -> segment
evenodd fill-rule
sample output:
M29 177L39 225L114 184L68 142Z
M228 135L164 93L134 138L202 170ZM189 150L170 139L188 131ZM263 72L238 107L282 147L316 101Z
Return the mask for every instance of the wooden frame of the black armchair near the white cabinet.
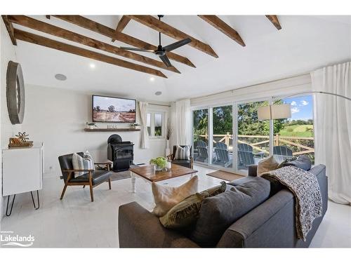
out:
M110 171L110 163L94 163L94 166L106 166L106 169L108 171ZM63 190L62 190L62 194L61 194L61 197L60 197L60 200L62 200L63 196L65 195L65 191L67 189L67 186L69 185L83 185L83 188L86 187L86 185L88 185L90 187L90 196L91 196L91 201L93 202L94 201L94 193L93 193L93 188L102 184L102 182L100 182L99 184L94 184L93 185L93 177L91 175L91 173L93 172L94 170L62 170L62 172L65 172L65 173L68 173L68 176L67 176L67 180L65 182L65 187L63 187ZM71 177L72 177L72 173L74 172L87 172L88 173L88 179L89 179L89 182L69 182L69 180L71 180ZM111 179L109 177L109 179L107 180L107 182L109 183L109 189L111 190Z

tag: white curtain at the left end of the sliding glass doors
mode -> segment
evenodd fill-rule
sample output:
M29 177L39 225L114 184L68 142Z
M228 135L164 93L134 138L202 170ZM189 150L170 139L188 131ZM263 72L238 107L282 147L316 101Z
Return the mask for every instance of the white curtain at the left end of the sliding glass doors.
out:
M180 100L174 104L173 130L176 144L190 145L190 100Z

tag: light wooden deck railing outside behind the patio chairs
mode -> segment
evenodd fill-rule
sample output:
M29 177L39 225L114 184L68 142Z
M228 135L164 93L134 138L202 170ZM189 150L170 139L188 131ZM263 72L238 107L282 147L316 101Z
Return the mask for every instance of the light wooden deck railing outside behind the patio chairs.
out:
M208 134L199 135L199 137L203 137L205 140L208 140ZM251 145L253 149L257 151L263 151L266 154L269 154L269 147L265 147L263 145L267 145L270 142L270 136L267 135L238 135L238 142L239 143L246 143ZM249 140L257 140L261 139L261 141L256 142L249 142L249 140L245 140L245 138ZM216 140L215 140L216 139ZM218 140L219 139L219 140ZM232 140L232 135L230 133L227 134L216 134L213 135L213 143L216 142L223 142L227 145L228 149L232 149L232 144L230 144L230 140ZM302 144L300 141L311 142L313 141L313 137L295 137L295 136L281 136L281 135L274 135L274 146L279 145L286 145L287 147L291 146L291 150L293 151L293 155L300 155L300 154L311 154L314 153L313 143L312 147L308 145ZM309 143L311 144L311 143ZM296 151L298 149L298 151ZM295 151L294 151L295 150Z

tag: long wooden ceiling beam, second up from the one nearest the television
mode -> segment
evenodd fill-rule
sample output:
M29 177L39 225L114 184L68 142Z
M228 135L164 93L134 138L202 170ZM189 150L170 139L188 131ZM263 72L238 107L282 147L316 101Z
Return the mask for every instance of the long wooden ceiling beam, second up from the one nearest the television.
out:
M23 27L29 27L31 29L44 32L46 34L61 37L62 39L67 39L69 41L81 43L83 45L90 46L91 48L98 48L99 50L113 53L115 55L121 55L124 58L129 58L131 60L143 62L154 67L160 67L161 69L167 69L171 72L180 73L175 67L166 67L166 65L164 65L164 63L159 60L147 58L143 55L139 55L128 50L117 48L117 46L112 46L102 41L91 39L90 37L83 36L81 34L77 34L66 29L62 29L60 27L55 27L54 25L35 20L34 18L29 18L25 15L8 15L8 20L15 24L22 25Z

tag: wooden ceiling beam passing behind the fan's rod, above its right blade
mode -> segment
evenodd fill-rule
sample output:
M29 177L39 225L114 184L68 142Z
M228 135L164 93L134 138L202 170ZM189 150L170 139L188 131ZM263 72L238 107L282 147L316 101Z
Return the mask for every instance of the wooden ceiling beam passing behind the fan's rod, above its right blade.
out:
M192 41L188 43L189 46L197 48L198 50L201 50L202 52L208 55L218 58L216 52L211 48L211 46L208 46L208 44L203 43L198 39L195 39L194 37L189 36L188 34L185 34L174 27L171 27L165 22L154 18L152 15L128 15L128 17L142 23L143 25L146 25L147 27L157 30L163 34L166 34L167 36L171 36L173 37L173 39L182 40L190 38Z

